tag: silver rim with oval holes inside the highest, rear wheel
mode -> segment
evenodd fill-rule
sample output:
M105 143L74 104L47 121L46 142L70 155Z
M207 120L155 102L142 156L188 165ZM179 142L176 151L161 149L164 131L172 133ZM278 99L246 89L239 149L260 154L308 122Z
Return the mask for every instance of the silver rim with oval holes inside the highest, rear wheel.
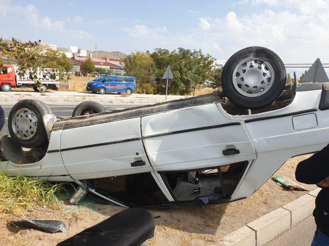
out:
M237 92L247 97L257 97L272 87L274 70L263 59L246 58L235 67L232 80Z

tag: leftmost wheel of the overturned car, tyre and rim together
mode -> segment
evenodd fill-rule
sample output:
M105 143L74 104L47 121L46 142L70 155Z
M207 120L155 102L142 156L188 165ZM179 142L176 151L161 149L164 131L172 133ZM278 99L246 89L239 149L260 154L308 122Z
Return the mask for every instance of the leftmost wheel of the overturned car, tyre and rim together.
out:
M47 144L43 116L51 113L51 109L40 100L19 101L12 107L8 116L11 138L25 148L42 147Z

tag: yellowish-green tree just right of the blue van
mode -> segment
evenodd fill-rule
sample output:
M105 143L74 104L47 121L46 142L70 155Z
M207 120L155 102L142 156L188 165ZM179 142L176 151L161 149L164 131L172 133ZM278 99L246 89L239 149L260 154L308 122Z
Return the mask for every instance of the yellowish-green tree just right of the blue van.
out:
M136 79L137 92L152 93L155 79L155 64L149 51L132 52L124 58L124 70Z

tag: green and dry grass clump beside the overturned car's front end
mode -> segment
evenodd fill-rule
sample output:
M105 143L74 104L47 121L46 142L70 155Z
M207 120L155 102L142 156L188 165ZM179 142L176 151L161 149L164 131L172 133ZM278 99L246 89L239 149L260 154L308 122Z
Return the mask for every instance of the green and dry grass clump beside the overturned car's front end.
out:
M56 194L63 190L63 183L23 176L11 177L0 171L0 212L24 216L24 209L35 205L58 208Z

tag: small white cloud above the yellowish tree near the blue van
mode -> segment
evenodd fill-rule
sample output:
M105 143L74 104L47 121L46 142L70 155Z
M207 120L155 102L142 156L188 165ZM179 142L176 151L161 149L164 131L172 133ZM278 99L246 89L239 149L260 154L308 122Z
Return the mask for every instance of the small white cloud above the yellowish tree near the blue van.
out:
M133 28L122 28L123 31L129 33L133 37L141 37L146 39L161 39L163 33L167 32L167 27L149 28L145 25L135 25Z

